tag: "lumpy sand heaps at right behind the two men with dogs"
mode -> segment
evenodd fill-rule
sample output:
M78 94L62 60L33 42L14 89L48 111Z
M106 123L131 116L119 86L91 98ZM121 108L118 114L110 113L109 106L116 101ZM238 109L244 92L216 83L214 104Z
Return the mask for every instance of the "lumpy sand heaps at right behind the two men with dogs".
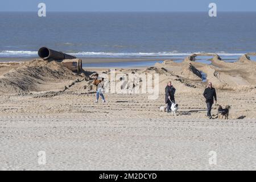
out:
M256 88L256 63L242 56L235 63L226 63L218 56L214 56L212 64L198 63L187 57L181 63L165 60L162 64L157 63L155 67L164 67L168 73L180 76L197 84L197 88L206 86L207 82L213 82L217 89L222 90L247 90ZM206 81L201 80L200 73L206 75Z

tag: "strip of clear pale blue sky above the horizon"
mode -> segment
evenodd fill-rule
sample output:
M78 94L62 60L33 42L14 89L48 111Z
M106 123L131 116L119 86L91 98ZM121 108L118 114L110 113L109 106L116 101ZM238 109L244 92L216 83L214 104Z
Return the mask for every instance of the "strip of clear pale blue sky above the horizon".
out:
M255 0L1 0L0 11L208 11L211 2L218 11L256 11Z

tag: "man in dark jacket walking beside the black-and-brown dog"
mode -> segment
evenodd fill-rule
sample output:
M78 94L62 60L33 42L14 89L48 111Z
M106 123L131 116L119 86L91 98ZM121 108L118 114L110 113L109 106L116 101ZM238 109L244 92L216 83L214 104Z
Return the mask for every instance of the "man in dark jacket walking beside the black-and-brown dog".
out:
M216 90L212 87L212 83L209 82L208 87L204 90L204 98L206 99L206 103L207 103L207 116L210 119L212 119L212 114L210 114L210 111L212 110L213 97L216 103L217 102Z

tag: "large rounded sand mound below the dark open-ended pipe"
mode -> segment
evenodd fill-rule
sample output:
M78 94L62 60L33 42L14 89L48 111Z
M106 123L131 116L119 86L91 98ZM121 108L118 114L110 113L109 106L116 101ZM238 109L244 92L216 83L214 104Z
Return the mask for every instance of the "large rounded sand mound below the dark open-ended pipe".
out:
M36 59L0 76L0 93L38 92L44 90L44 85L77 77L61 63Z

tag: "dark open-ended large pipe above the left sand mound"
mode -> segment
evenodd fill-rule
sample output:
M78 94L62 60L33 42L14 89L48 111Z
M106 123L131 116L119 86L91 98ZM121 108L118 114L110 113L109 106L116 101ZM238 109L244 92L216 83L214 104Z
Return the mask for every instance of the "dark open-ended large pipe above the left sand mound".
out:
M64 59L76 59L75 56L67 55L66 53L54 51L52 49L48 49L47 47L41 47L38 50L38 56L47 59L55 59L55 60L64 60Z

